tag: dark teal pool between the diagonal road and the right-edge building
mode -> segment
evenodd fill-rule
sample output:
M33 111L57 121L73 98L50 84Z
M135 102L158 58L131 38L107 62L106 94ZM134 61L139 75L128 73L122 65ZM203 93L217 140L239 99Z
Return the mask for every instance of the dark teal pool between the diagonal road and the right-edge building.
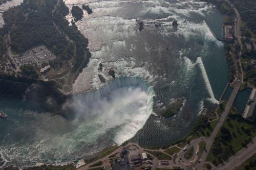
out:
M237 108L238 114L243 114L247 101L250 97L251 89L246 88L238 92L236 99L234 99L234 107Z

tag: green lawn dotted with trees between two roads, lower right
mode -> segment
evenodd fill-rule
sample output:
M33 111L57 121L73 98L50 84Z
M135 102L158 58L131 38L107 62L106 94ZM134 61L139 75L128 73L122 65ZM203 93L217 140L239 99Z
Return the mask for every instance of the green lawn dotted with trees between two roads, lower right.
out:
M221 130L218 132L206 158L214 164L220 164L244 148L256 135L256 125L247 122L238 114L229 112Z

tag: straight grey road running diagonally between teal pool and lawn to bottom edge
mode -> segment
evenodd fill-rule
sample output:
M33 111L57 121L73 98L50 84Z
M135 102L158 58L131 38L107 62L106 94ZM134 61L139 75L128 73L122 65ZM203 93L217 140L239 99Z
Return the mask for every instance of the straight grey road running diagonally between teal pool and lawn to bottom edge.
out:
M229 110L230 110L230 108L231 108L231 106L232 106L232 104L234 102L234 99L237 96L237 93L238 93L239 88L240 88L241 85L242 85L241 81L234 82L234 88L233 88L233 91L232 91L232 93L230 95L229 100L227 101L226 108L225 108L224 112L221 115L219 123L216 125L214 131L212 131L210 137L206 141L206 149L205 149L205 151L203 152L203 154L201 156L202 161L200 163L197 163L197 165L196 165L197 169L201 169L202 168L202 166L203 166L203 164L205 162L205 159L206 159L206 157L208 155L208 152L210 151L211 145L214 142L214 138L216 137L217 133L219 132L221 126L223 125L223 123L224 123L223 120L227 117L228 112L229 112Z

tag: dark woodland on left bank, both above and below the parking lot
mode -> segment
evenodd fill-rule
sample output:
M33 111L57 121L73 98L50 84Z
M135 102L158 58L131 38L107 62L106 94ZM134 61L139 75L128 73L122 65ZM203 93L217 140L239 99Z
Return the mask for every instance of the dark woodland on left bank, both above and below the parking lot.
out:
M72 75L69 77L73 83L73 79L89 62L91 54L88 39L80 33L74 22L69 24L65 18L68 14L69 9L65 3L59 1L57 4L56 0L24 0L21 5L10 8L3 14L5 25L0 29L0 42L3 42L0 43L0 54L4 56L7 52L7 43L4 41L10 43L14 54L22 54L34 46L45 45L56 56L47 64L56 72ZM41 84L38 67L21 66L21 72L13 71L8 75L3 73L0 76L0 81L3 82L1 85L9 86L10 89L16 86L16 90L13 90L17 92L15 95L23 96L32 83ZM67 69L71 71L63 71ZM57 88L54 83L49 83L48 87L50 86L55 90ZM6 94L3 89L6 88L0 90L0 95Z

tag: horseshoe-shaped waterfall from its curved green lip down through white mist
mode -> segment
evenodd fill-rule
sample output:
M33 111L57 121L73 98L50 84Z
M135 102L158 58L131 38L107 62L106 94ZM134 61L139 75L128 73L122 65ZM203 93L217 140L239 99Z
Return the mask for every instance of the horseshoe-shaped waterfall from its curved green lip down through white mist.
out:
M122 77L97 91L74 94L72 107L77 117L91 117L108 131L117 128L114 142L132 138L153 113L155 91L138 77ZM102 129L96 129L100 131Z

